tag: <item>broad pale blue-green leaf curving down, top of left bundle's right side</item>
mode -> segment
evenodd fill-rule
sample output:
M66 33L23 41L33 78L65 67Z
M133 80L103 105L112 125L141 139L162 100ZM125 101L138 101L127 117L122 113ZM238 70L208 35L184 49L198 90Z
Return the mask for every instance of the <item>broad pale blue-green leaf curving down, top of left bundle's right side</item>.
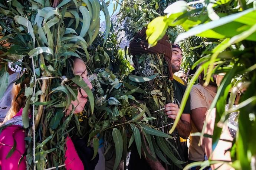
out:
M85 34L87 33L88 29L89 29L89 26L90 26L90 23L91 23L91 17L90 17L89 11L87 10L86 7L80 6L79 11L83 15L83 26L81 28L81 32L80 32L79 36L84 37Z

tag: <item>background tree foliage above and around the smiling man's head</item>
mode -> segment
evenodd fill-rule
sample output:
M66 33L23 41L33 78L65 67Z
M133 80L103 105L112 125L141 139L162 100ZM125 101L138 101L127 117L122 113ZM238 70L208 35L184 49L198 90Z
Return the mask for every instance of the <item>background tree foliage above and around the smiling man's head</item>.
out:
M174 3L173 0L136 0L136 1L123 1L123 6L120 11L120 21L124 24L124 31L131 40L139 30L147 27L150 21L154 18L163 16L165 8ZM158 24L159 21L158 21ZM179 25L175 27L169 27L166 30L170 41L174 43L176 37L183 33L185 30ZM164 33L165 31L163 31ZM179 42L180 47L183 49L183 62L182 69L188 72L194 62L203 57L201 54L204 50L210 51L214 46L214 43L208 43L206 38L201 37L189 37Z

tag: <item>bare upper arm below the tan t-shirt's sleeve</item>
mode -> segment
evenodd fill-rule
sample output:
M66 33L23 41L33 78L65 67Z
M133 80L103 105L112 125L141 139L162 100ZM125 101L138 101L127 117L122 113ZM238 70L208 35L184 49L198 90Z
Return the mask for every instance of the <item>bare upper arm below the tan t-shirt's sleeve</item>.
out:
M206 114L207 108L196 108L191 110L191 120L198 132L201 132L204 125L204 116Z

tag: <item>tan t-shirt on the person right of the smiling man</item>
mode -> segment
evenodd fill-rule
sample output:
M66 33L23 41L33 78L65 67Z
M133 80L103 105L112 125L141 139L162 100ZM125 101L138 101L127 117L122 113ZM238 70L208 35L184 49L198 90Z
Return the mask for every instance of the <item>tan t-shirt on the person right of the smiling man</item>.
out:
M209 110L211 106L211 102L213 101L215 95L216 95L215 92L210 91L209 89L205 88L201 84L194 85L190 92L191 110L196 108L207 108L207 110ZM191 126L192 126L191 133L198 132L193 121L191 121ZM199 140L200 140L200 136L190 136L189 148L188 148L189 160L194 160L194 161L204 160L204 151L200 146L198 146Z

